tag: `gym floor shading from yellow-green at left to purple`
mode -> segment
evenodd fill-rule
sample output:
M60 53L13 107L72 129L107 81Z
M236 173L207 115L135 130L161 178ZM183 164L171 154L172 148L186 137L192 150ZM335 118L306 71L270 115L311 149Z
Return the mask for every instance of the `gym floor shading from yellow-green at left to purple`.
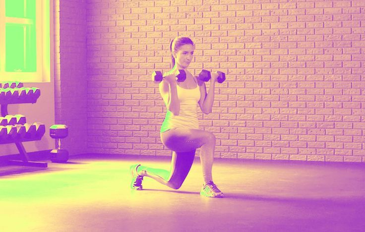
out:
M1 232L365 231L364 164L216 160L225 198L201 197L199 160L179 190L129 166L166 157L80 156L49 168L0 167Z

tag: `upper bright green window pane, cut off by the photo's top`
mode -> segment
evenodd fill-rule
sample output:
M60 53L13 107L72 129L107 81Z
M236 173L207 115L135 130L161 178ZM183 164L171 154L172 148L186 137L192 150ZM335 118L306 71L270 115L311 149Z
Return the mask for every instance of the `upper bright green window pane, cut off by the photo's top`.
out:
M5 16L35 19L36 0L5 0Z

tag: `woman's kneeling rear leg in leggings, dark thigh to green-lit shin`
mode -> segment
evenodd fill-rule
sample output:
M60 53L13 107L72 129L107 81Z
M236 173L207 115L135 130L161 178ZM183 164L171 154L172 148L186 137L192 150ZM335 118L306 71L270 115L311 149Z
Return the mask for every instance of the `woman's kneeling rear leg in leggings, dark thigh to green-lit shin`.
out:
M139 166L138 173L141 173L143 176L151 177L173 189L179 189L190 171L194 161L195 151L196 150L189 152L173 151L170 172L163 169Z

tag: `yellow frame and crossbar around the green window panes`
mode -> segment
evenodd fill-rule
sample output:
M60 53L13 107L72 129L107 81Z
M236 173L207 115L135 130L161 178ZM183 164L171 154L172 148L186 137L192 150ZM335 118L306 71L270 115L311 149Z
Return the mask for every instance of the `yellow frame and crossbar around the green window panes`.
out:
M36 37L37 37L37 71L7 72L5 71L5 25L6 23L25 23L28 19L6 17L5 0L0 0L0 82L50 82L51 81L51 45L53 22L53 0L36 0Z

